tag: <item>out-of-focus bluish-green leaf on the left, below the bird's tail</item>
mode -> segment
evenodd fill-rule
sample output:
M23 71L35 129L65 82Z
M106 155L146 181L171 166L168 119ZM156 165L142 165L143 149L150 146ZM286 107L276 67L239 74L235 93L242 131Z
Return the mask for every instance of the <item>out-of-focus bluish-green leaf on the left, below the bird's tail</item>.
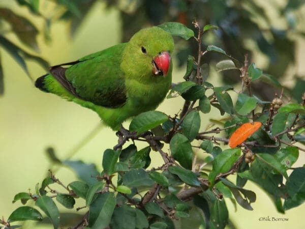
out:
M98 172L95 164L85 164L80 160L79 161L65 160L63 163L71 167L75 171L79 179L84 181L88 185L98 182L98 180L95 177L99 176L100 173Z

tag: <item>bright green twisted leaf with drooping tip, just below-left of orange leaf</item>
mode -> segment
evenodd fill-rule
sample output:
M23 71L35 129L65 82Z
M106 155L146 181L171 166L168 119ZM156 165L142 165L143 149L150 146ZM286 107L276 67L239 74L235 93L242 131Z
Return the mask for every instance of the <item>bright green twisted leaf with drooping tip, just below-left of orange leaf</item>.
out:
M240 148L233 148L224 150L221 154L215 157L212 171L208 176L210 188L214 186L216 176L220 173L226 173L239 158L239 156Z

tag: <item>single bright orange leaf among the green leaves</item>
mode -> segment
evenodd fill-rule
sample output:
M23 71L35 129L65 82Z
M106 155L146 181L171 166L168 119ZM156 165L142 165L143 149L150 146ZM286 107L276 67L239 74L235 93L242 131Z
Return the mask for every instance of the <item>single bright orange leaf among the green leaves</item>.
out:
M261 125L262 125L261 122L242 124L232 133L229 139L229 146L231 148L237 147L243 141L245 141L249 136L251 136L255 131L257 131L261 127Z

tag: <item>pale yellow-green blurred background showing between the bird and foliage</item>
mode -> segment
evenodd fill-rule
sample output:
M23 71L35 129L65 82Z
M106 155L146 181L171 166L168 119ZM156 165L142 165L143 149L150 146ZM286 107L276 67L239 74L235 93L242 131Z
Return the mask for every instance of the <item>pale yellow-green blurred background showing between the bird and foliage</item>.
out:
M119 2L126 4L128 1ZM28 9L19 7L13 1L0 1L0 6L8 7L27 17L39 30L42 30L44 20L40 16L33 16ZM44 1L40 8L49 13L53 9ZM304 12L304 5L300 10ZM270 12L272 13L272 9ZM69 33L69 22L65 20L52 23L49 34L50 42L46 43L44 36L39 34L37 39L40 55L52 66L74 61L86 54L117 44L121 42L124 33L121 28L127 23L121 18L122 13L118 8L107 8L105 3L97 1L94 7L90 8L73 36ZM273 19L277 22L277 18ZM135 23L141 24L139 21ZM6 33L5 35L18 46L24 47L14 34ZM249 47L257 48L251 40L248 43ZM283 73L285 78L281 79L281 82L287 87L293 87L295 84L293 77L305 75L305 65L302 65L305 60L304 39L300 37L295 45L297 47L295 62L298 64L288 67L287 72ZM182 49L178 49L176 52L179 50ZM258 49L257 52L254 52L253 60L258 67L265 67L268 62L268 58ZM7 219L14 209L21 206L20 202L12 204L14 195L28 189L34 192L36 183L41 182L47 175L47 170L51 167L45 154L47 147L53 147L57 156L65 159L75 152L76 148L79 148L78 145L86 136L94 131L95 134L86 144L74 153L73 159L96 163L101 170L102 152L107 148L112 148L116 144L117 138L109 128L100 128L100 119L93 111L36 89L22 68L3 48L1 48L1 62L5 93L0 97L0 216ZM26 63L28 71L34 79L45 74L45 70L36 62L27 61ZM185 66L179 67L178 63L179 60L174 58L174 82L182 81L185 73ZM299 78L301 79L301 77ZM208 78L209 82L216 85L219 85L221 80L221 77L213 72ZM158 110L174 115L181 107L182 99L176 98L165 100ZM209 118L222 118L218 110L213 111L208 114L208 117L202 117L203 120L206 120L206 124ZM128 123L125 126L128 127ZM97 128L98 131L95 131ZM167 150L168 147L166 146L165 149ZM158 157L153 159L152 166L157 165L158 160ZM305 154L301 152L295 167L302 166L304 163ZM56 177L64 183L75 179L74 174L66 168L60 168ZM229 217L236 228L305 228L302 220L305 205L291 209L282 215L276 211L267 194L257 186L248 182L245 188L256 192L257 201L252 205L254 211L247 211L239 206L235 211L234 206L227 202ZM267 216L288 218L289 220L286 222L259 221L260 217ZM181 222L181 228L189 228L185 223ZM34 228L34 226L26 224L24 228ZM36 228L42 228L42 226ZM45 228L51 227L46 226Z

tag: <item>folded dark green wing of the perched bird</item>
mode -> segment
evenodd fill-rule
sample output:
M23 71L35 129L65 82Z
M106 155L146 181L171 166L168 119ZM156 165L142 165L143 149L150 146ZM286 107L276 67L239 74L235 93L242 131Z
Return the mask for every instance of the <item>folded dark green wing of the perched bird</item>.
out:
M119 107L126 102L124 73L120 70L123 50L118 44L76 62L52 67L51 74L78 98L105 107ZM63 68L64 65L71 65Z

